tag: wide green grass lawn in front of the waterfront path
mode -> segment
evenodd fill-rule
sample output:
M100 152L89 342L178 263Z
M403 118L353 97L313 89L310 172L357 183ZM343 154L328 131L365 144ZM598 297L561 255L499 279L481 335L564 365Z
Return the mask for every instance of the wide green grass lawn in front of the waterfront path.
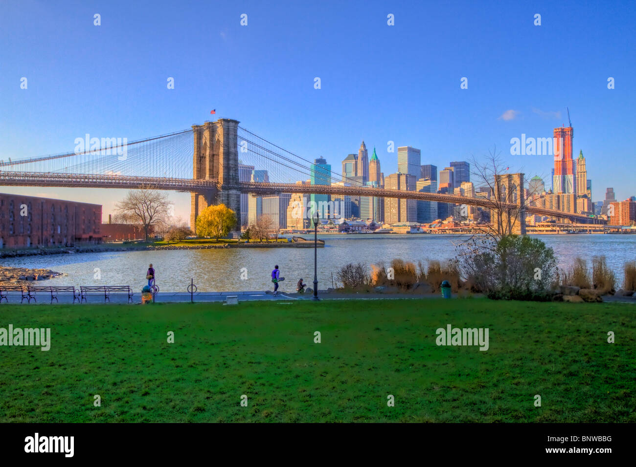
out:
M3 304L0 327L50 327L52 344L0 347L0 422L634 422L635 316L487 299ZM490 348L437 346L448 323L489 328Z

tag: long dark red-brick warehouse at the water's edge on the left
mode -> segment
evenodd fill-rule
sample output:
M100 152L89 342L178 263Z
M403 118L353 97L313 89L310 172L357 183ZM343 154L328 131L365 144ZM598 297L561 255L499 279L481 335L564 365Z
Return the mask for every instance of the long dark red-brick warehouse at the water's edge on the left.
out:
M0 248L99 243L102 206L0 193Z

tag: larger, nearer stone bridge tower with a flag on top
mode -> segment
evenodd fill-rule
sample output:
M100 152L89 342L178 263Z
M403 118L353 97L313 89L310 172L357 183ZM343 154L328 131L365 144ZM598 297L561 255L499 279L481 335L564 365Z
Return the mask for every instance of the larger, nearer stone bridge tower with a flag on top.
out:
M207 206L224 204L237 215L240 225L239 122L228 118L192 125L194 133L193 179L218 180L218 187L191 193L190 227L194 231L197 216Z

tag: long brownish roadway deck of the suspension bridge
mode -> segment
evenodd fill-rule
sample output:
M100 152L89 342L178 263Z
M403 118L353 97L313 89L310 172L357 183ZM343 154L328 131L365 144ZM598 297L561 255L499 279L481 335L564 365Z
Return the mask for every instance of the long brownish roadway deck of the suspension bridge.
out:
M0 171L0 186L46 186L77 188L120 188L120 189L159 189L196 192L202 189L218 188L216 179L193 180L165 177L131 177L128 175L107 174L69 174L55 172L4 172ZM420 191L392 190L385 188L366 188L354 186L307 185L283 183L240 182L239 186L224 186L224 189L239 189L243 193L260 195L279 193L303 194L345 194L349 196L377 196L381 198L408 198L440 203L466 204L482 208L492 208L492 201L486 198L467 198L454 194L422 193ZM510 205L515 208L516 205ZM560 219L585 220L590 217L583 214L563 212L554 209L528 206L527 213L556 217Z

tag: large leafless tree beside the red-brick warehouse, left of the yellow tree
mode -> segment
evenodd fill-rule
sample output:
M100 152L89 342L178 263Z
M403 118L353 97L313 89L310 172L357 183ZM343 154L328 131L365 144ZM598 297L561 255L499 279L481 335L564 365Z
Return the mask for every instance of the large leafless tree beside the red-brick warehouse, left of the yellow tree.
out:
M117 215L125 219L132 219L144 227L144 237L148 241L148 233L151 227L162 229L169 217L169 208L172 201L166 194L149 189L130 190L126 197L115 205Z

